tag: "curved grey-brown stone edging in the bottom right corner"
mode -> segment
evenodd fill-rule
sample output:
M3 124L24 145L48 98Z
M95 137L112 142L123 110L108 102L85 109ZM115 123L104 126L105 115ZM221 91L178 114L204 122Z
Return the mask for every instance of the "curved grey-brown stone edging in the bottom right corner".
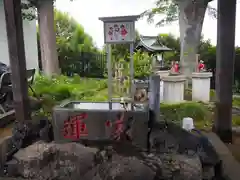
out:
M204 132L210 143L215 147L219 158L222 161L223 175L230 180L239 180L240 178L240 164L233 157L227 146L219 139L213 132Z

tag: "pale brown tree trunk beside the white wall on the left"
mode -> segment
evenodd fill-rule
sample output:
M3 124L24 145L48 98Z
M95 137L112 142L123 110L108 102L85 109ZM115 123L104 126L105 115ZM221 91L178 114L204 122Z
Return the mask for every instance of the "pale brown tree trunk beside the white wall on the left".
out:
M37 9L43 72L47 76L59 74L53 1L41 1Z

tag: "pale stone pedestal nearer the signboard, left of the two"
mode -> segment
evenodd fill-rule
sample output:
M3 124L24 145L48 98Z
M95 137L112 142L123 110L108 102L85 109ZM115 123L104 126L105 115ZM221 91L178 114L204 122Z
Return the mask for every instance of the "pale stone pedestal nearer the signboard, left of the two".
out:
M182 75L164 76L163 81L163 102L180 103L184 100L184 82L186 77Z

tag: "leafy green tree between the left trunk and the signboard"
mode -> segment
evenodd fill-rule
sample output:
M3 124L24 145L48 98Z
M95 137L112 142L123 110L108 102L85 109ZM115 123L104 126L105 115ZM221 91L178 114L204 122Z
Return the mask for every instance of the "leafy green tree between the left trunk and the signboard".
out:
M89 76L101 76L105 63L102 55L93 43L93 39L84 28L67 13L55 10L57 52L62 73L83 74L84 68L91 67ZM103 62L104 61L104 62Z

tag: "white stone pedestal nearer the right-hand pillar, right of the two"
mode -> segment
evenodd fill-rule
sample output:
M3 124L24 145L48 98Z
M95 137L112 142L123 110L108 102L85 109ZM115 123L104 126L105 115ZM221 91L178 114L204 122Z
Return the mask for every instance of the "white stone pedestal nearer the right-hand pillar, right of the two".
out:
M208 102L210 100L211 72L192 73L192 100Z

